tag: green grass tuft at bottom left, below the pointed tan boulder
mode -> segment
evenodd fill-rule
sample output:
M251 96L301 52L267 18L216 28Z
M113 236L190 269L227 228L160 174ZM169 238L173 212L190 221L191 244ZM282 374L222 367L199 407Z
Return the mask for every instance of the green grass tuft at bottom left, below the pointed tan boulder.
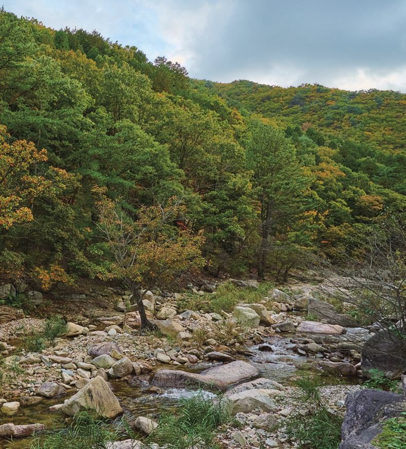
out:
M31 449L83 449L84 447L103 448L108 441L116 441L108 422L98 419L88 411L76 414L71 422L60 428L47 430L31 443Z

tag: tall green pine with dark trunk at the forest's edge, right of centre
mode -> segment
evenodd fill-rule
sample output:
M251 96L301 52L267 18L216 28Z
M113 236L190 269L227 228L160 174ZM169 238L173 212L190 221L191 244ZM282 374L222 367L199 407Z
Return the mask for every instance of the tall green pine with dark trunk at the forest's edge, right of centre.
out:
M247 166L253 172L261 217L261 245L257 273L265 275L270 237L283 230L304 211L304 191L310 184L300 167L296 150L284 133L269 125L254 124L246 142Z

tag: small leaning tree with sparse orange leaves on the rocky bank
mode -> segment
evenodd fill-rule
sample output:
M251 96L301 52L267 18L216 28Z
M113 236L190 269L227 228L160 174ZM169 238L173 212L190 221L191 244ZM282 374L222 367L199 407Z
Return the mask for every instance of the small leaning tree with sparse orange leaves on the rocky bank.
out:
M173 197L168 205L142 206L133 220L118 202L109 200L103 189L97 204L98 228L106 242L110 259L100 266L102 279L120 279L132 292L141 318L141 328L154 328L148 320L142 299L156 284L168 285L184 271L204 265L200 245L182 227L174 225L184 213L181 199Z

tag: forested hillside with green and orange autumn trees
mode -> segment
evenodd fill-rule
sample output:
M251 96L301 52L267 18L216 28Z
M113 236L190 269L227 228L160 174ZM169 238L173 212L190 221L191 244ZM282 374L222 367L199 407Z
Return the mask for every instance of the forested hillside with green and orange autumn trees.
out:
M191 80L97 31L3 10L0 276L169 281L160 267L190 262L281 279L308 254L360 255L405 206L405 104ZM116 251L128 235L131 266Z

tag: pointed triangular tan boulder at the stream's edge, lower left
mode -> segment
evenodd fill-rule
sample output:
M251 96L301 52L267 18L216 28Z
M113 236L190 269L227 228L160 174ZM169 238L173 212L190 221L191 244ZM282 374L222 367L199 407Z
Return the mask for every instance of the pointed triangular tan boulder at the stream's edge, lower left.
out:
M123 412L118 399L100 376L96 376L62 406L62 411L69 416L83 409L95 410L99 416L110 419Z

